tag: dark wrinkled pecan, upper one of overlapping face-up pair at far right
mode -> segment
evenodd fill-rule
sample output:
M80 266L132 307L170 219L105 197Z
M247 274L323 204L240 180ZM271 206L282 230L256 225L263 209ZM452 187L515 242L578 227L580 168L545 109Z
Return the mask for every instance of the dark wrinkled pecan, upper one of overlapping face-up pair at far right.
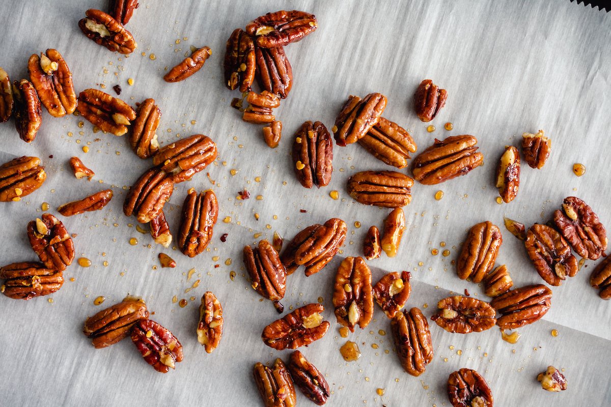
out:
M554 212L554 223L560 234L582 258L601 257L607 250L607 230L592 208L576 196L569 196L562 209Z

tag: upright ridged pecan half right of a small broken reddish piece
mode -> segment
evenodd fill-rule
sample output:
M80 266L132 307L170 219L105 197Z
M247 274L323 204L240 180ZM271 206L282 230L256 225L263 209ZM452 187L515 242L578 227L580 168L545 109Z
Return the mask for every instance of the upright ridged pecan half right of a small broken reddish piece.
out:
M212 190L197 195L194 188L189 189L178 229L178 249L185 256L195 257L208 246L218 214L219 204Z

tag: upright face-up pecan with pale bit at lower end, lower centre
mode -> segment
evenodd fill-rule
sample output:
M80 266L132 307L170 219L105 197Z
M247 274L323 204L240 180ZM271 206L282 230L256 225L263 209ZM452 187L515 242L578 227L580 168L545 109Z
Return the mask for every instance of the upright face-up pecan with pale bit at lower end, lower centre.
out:
M337 322L348 326L351 332L354 332L355 325L363 329L371 321L373 316L371 271L362 258L346 258L337 268L333 306Z

